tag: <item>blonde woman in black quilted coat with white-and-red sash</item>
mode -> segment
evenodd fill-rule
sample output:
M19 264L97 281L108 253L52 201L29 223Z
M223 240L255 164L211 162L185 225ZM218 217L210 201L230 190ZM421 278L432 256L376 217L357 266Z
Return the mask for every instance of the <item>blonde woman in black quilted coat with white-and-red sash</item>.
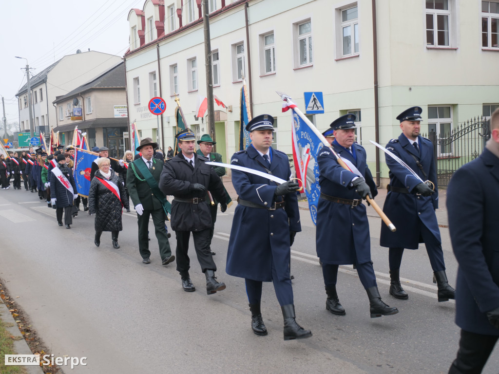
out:
M95 239L94 243L100 245L102 231L111 231L113 247L119 248L118 233L123 230L121 213L123 206L130 208L125 187L120 182L118 174L110 169L111 161L101 157L97 161L99 170L90 183L88 193L88 214L95 214ZM120 198L116 196L119 193ZM120 201L121 200L121 201Z

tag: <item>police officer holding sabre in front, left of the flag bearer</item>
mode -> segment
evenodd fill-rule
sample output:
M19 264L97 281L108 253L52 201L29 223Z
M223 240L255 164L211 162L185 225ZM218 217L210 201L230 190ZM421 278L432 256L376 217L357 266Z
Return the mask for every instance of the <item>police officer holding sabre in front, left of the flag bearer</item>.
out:
M246 126L251 145L232 156L231 164L272 174L285 181L291 171L286 154L271 148L273 118L263 114ZM295 321L293 289L289 279L290 246L301 231L293 181L278 185L264 177L232 170L239 195L227 252L227 274L245 278L250 302L251 328L267 335L260 311L262 282L273 282L284 317L284 340L308 338Z

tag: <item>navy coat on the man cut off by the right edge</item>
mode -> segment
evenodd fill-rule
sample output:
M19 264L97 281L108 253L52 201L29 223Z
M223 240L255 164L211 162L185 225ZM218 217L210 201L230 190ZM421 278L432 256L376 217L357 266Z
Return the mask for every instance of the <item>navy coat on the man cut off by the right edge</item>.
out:
M451 242L459 263L456 324L499 335L486 312L499 307L499 159L489 150L459 169L447 189Z

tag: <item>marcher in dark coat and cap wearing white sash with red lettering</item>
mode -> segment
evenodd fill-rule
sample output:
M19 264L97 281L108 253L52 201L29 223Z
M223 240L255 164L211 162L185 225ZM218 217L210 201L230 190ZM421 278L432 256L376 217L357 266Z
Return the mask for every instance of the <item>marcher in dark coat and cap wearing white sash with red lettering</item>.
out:
M50 203L56 206L57 223L62 226L62 212L66 228L73 223L73 200L78 197L73 173L66 166L64 155L57 155L57 167L50 171Z

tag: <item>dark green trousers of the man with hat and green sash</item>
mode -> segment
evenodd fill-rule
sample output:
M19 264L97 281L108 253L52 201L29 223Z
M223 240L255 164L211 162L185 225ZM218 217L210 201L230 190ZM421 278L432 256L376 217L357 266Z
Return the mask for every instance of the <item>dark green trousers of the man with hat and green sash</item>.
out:
M170 249L170 242L168 241L167 231L165 230L165 211L160 209L144 209L142 215L137 213L137 223L139 225L139 252L142 258L151 256L149 250L149 240L147 235L149 233L149 216L153 219L154 230L156 238L158 239L159 254L161 259L164 260L172 255Z

